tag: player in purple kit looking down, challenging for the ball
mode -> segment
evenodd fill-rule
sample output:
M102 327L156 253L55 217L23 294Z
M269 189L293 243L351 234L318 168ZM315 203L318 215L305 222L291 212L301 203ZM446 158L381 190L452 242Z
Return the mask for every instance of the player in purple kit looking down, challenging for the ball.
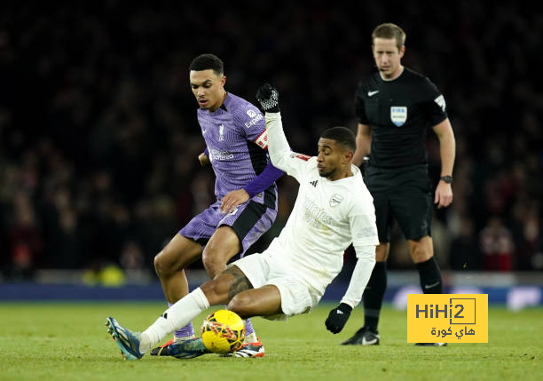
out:
M277 186L283 175L267 154L264 115L257 107L224 90L224 64L213 54L201 54L190 65L191 88L206 149L201 165L211 163L216 175L216 202L195 216L154 258L169 306L188 294L185 266L198 258L213 279L236 255L246 250L277 216ZM174 333L174 341L194 337L192 323ZM170 355L169 343L152 355ZM264 346L249 320L242 357L264 356Z

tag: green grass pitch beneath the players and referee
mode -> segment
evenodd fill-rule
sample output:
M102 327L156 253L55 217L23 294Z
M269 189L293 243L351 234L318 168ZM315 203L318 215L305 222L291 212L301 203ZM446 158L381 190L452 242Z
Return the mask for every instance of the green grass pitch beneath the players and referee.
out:
M332 335L324 326L331 307L319 306L287 322L254 318L266 348L262 359L208 354L192 360L145 356L124 361L106 334L106 317L142 330L164 305L4 303L0 304L0 380L543 379L541 308L513 313L491 306L488 344L415 347L406 342L405 312L386 307L382 344L361 347L339 343L358 329L362 309L354 311L340 334ZM209 311L194 320L197 329Z

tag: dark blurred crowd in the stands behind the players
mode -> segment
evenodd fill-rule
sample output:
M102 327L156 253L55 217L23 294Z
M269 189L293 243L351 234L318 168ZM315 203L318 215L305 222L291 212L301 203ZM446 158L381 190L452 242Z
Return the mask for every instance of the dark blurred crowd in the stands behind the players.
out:
M403 63L445 95L457 139L454 201L437 210L436 255L453 270L543 269L543 14L490 1L0 5L0 264L153 271L153 257L214 199L188 65L224 60L225 88L255 101L279 88L287 138L313 154L319 133L353 131L354 91L374 71L371 31L407 33ZM439 145L429 131L429 165ZM295 181L279 180L286 222ZM399 230L390 267L412 268ZM201 266L194 264L193 266Z

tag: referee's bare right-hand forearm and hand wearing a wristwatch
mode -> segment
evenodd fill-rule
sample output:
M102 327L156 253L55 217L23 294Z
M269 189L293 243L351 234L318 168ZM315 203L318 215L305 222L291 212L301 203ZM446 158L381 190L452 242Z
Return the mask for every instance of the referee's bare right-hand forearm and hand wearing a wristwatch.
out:
M436 132L437 139L439 139L441 177L453 176L456 141L449 118L445 118L441 123L437 123L433 127L433 130ZM440 209L449 206L451 202L453 202L452 184L451 182L446 182L444 179L440 179L439 183L437 183L434 203L437 203L437 209Z

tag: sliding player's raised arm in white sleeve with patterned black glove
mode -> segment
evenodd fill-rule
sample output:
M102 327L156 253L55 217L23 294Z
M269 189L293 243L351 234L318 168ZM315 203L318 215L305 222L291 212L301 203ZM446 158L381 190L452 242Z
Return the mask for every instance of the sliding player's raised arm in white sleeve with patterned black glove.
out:
M295 179L300 179L303 176L309 156L295 154L288 146L279 112L279 92L270 84L265 83L256 91L256 99L258 99L260 106L265 111L268 152L270 153L271 163L286 171Z

